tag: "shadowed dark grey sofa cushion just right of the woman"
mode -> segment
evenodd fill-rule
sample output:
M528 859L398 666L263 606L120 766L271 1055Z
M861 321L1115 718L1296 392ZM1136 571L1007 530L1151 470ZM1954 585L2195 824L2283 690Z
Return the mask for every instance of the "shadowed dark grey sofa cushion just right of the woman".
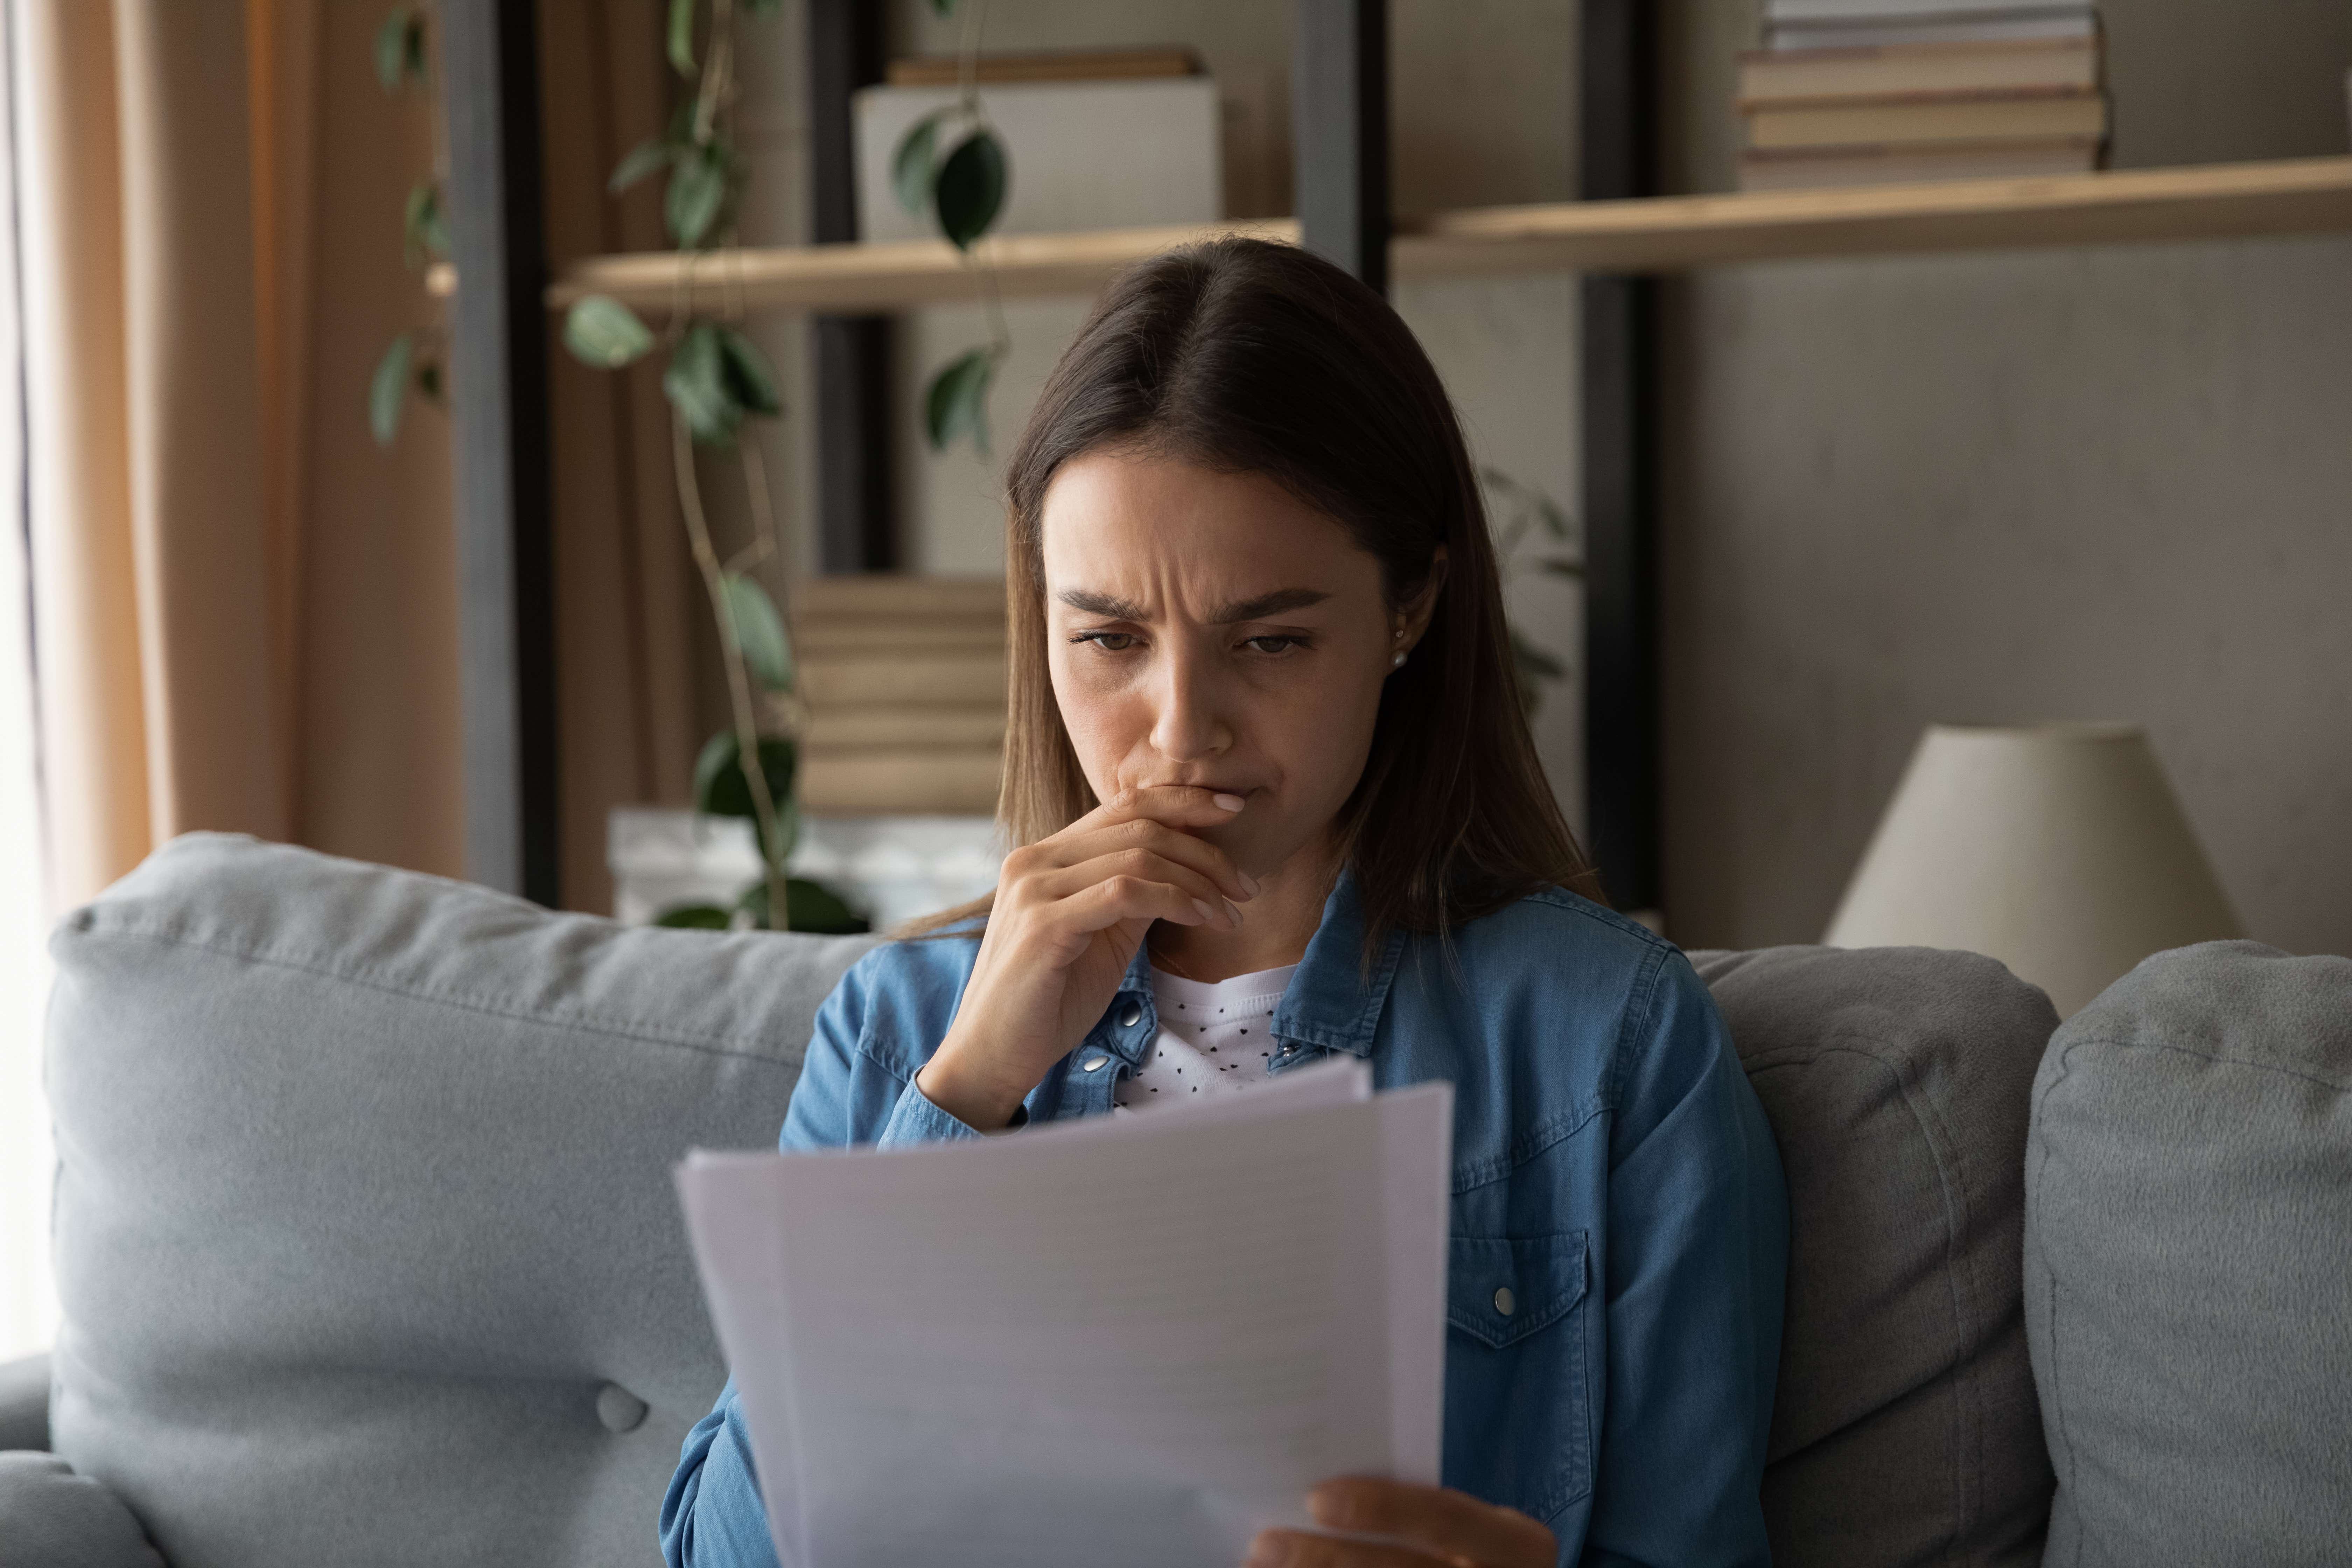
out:
M1966 952L1691 961L1788 1173L1773 1561L2032 1563L2051 1472L2018 1248L2027 1091L2058 1016Z

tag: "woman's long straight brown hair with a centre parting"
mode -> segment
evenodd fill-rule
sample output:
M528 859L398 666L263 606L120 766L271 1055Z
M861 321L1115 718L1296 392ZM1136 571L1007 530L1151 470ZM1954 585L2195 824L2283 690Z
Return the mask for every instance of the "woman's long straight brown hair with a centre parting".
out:
M1428 632L1383 684L1364 776L1336 823L1362 893L1367 957L1390 931L1451 931L1543 886L1602 896L1519 712L1486 508L1437 369L1362 282L1303 249L1240 237L1120 275L1014 449L997 802L1007 842L1035 844L1098 804L1047 670L1040 515L1061 465L1101 447L1289 487L1378 557L1390 609L1428 588L1444 545Z

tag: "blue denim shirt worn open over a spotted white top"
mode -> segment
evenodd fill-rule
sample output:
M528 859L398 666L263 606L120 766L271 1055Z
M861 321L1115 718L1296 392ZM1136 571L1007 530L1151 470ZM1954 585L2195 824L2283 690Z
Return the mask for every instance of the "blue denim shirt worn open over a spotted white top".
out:
M1275 1011L1272 1070L1348 1053L1381 1088L1454 1084L1446 1486L1541 1519L1562 1563L1766 1568L1788 1201L1705 985L1663 938L1557 889L1449 943L1395 933L1369 973L1362 945L1341 877ZM976 936L894 943L842 978L786 1150L976 1135L915 1086L976 952ZM1105 1114L1157 1027L1138 952L1028 1121ZM731 1385L687 1436L661 1544L673 1568L776 1561Z

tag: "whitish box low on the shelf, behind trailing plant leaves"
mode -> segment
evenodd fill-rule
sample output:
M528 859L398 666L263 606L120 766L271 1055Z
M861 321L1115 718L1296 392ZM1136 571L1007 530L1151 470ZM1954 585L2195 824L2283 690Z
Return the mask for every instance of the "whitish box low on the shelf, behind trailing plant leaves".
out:
M997 884L985 816L809 816L793 875L823 882L887 931ZM731 905L760 877L750 823L673 806L614 806L604 827L614 919L642 926L682 903Z

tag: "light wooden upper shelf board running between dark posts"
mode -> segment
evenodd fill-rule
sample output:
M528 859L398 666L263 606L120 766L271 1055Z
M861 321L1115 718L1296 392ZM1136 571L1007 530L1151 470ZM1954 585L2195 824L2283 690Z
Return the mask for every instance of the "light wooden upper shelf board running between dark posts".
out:
M1637 202L1550 202L1442 212L1397 235L1395 275L1545 270L1677 273L1802 256L1891 256L2039 244L2117 244L2352 230L2352 158L2124 169L1931 186L1755 190ZM1209 235L1298 242L1291 219L981 242L1007 296L1091 294L1120 268ZM691 273L689 273L691 268ZM454 287L435 268L433 289ZM612 294L644 310L682 289L750 308L896 310L962 303L971 277L943 240L595 256L562 268L548 303Z

